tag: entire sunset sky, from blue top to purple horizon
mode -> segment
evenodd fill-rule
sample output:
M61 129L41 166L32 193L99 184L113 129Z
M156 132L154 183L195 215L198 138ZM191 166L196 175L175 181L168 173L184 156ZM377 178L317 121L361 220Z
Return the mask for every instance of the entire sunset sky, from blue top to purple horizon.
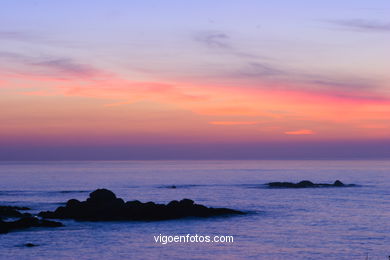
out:
M390 2L0 2L0 160L390 158Z

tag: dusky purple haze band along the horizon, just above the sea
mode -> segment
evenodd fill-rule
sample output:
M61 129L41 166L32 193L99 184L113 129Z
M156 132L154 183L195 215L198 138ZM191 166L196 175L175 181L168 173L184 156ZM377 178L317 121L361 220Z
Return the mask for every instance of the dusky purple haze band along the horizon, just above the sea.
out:
M390 141L322 141L209 144L47 145L5 144L0 160L218 160L387 159Z

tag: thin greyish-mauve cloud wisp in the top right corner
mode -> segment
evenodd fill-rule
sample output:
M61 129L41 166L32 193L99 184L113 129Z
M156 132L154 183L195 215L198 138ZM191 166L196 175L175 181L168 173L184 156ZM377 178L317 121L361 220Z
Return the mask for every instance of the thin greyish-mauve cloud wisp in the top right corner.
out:
M390 32L390 23L383 23L372 20L350 19L330 21L330 23L355 31Z

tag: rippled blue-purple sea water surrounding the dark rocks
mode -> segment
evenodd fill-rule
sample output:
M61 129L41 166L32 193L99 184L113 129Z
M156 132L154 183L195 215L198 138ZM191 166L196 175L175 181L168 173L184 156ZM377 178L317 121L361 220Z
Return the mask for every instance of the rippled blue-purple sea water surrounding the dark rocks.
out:
M108 188L125 200L190 198L247 215L157 222L62 221L0 235L0 259L388 259L390 161L1 162L0 205L54 210ZM269 189L270 181L358 184ZM168 186L176 185L176 189ZM229 235L233 243L168 243L158 235ZM23 247L24 243L38 244Z

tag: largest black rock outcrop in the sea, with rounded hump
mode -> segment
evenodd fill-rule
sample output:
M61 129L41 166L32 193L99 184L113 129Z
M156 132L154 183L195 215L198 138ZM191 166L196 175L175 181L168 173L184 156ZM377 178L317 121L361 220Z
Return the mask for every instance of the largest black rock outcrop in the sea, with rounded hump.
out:
M138 200L124 202L112 191L98 189L90 193L86 201L71 199L64 207L55 211L40 212L39 216L54 219L76 219L90 221L110 220L166 220L184 217L212 217L244 214L227 208L208 208L183 199L168 204L142 203Z

